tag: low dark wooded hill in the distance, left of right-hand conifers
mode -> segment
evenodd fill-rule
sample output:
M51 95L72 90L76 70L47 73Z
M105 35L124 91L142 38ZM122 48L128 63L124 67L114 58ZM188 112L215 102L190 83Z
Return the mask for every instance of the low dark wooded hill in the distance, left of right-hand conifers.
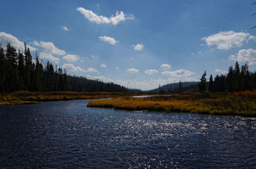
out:
M162 85L156 89L143 92L196 92L198 91L198 82L177 82Z

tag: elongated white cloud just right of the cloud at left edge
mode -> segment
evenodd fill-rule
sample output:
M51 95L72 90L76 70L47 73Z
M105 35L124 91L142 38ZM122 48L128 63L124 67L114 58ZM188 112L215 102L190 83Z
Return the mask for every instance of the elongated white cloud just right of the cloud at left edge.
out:
M33 45L36 45L38 47L42 47L44 48L44 52L45 53L50 53L50 54L56 54L56 55L65 55L66 52L64 50L60 50L57 47L55 47L55 45L50 42L50 41L40 41L40 43L38 43L37 41L33 42Z

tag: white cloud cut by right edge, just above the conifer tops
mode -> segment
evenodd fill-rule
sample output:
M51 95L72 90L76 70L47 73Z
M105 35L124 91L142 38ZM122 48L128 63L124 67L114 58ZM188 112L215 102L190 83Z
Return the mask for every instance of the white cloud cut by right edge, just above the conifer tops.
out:
M236 55L230 55L232 61L249 62L250 65L256 64L256 50L252 48L242 49Z

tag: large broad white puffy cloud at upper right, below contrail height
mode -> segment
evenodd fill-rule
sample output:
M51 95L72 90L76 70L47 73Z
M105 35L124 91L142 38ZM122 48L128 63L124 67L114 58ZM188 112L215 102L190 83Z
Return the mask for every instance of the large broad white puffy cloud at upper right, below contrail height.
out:
M255 36L249 33L236 33L234 31L221 31L220 33L212 34L211 36L204 37L206 44L216 46L221 50L229 50L232 47L241 47L244 41L252 40Z

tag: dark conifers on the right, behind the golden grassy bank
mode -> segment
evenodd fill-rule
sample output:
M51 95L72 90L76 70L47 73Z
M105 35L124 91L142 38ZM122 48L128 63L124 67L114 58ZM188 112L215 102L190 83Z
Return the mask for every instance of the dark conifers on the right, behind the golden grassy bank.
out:
M228 73L223 75L216 75L212 77L210 75L209 82L206 83L206 72L198 83L199 91L206 92L234 92L234 91L246 91L256 89L256 72L249 71L248 63L244 63L241 67L236 62L235 67L230 66Z

